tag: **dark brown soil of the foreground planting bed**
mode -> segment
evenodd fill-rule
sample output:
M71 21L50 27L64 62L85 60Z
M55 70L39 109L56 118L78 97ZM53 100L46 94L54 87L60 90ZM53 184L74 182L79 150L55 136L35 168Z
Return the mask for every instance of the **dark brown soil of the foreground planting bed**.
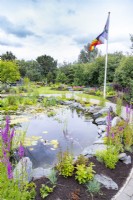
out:
M127 153L127 155L131 155L133 160L133 154ZM108 169L104 164L98 162L95 157L89 159L90 162L95 164L94 170L98 174L103 174L112 178L117 184L119 189L123 186L126 178L128 177L130 170L132 168L132 164L124 164L119 161L114 170ZM41 184L49 185L49 180L45 177L35 180L36 184L36 200L42 200L40 195L40 187ZM106 189L102 187L100 193L93 196L89 192L87 192L87 188L83 184L79 184L75 177L64 178L62 176L58 176L57 185L54 188L54 191L47 196L46 200L111 200L111 198L117 193L117 190Z

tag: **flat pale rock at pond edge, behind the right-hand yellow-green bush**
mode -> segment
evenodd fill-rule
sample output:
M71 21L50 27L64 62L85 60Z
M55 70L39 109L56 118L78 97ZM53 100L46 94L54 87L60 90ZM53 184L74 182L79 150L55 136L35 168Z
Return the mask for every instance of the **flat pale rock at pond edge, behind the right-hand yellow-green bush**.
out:
M107 148L105 144L93 144L87 148L85 148L81 154L85 155L95 155L96 151L102 151Z

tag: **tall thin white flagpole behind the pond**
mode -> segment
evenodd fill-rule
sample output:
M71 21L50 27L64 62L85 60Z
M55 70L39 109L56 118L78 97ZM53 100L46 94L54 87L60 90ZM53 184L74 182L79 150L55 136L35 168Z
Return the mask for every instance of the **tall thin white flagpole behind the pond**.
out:
M108 19L110 18L110 12L108 12ZM103 97L106 99L106 80L107 80L107 65L108 65L108 35L109 35L109 27L107 34L107 42L106 42L106 57L105 57L105 71L104 71L104 90Z

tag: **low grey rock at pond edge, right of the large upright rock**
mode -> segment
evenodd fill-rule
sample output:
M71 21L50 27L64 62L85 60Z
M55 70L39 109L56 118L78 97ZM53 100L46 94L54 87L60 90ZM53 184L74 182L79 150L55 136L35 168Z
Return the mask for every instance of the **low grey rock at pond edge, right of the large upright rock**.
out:
M33 179L36 180L43 176L48 177L51 174L51 171L52 168L47 168L47 169L43 169L42 167L35 168L33 169L32 173Z

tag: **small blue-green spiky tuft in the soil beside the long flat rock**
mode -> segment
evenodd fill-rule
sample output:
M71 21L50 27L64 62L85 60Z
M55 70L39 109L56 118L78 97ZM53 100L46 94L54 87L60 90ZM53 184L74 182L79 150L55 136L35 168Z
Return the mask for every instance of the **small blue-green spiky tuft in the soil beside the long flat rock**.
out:
M86 184L86 187L87 191L89 191L91 194L98 194L101 189L101 184L97 180L93 179Z

